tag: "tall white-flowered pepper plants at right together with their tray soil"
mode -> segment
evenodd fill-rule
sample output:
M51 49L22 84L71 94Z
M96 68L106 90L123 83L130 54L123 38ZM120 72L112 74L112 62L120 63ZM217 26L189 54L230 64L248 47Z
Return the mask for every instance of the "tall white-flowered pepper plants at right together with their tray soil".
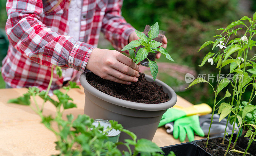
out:
M249 23L249 25L246 25L245 21ZM240 28L237 28L235 30L232 29L235 26L240 26ZM250 147L253 141L255 141L256 130L255 120L252 115L253 113L255 113L254 110L256 109L256 106L251 103L253 98L255 97L256 88L256 56L250 55L252 48L256 46L256 41L252 40L252 37L255 35L255 26L256 13L254 13L252 18L244 16L240 20L232 22L225 29L217 29L221 31L221 33L214 37L217 37L218 39L216 39L215 41L205 42L198 50L200 51L202 48L210 44L213 44L212 50L214 48L218 48L217 53L207 53L201 65L199 65L201 67L207 61L208 63L211 63L211 65L213 65L215 62L216 67L219 70L218 83L216 88L214 88L212 84L205 79L197 78L193 82L191 82L189 87L200 82L209 83L215 93L212 117L215 111L218 110L218 114L220 114L219 121L221 121L224 117L227 117L227 124L228 122L233 124L232 133L230 137L228 137L228 139L225 139L225 131L223 137L209 138L208 133L207 139L195 141L196 145L200 146L200 148L208 152L209 155L252 155L248 153L248 150L252 149L252 152L255 151L255 147ZM241 38L236 37L238 31L243 32L244 34L243 36L241 36ZM234 39L230 40L230 36L232 36L232 38ZM249 58L249 56L251 57ZM220 78L221 69L224 66L228 66L230 68L230 73L223 78ZM225 96L222 96L221 100L217 101L217 96L219 96L220 91L228 85L232 87L232 92L229 93L229 90L226 90ZM251 92L251 96L248 99L244 99L245 97L242 95L244 94L244 91L246 89L248 90L248 86L252 86L252 90L249 90ZM228 103L223 102L223 99L227 97L232 98ZM248 102L242 102L243 100L246 100ZM239 125L238 128L235 127L236 123L238 123ZM211 125L209 128L209 132L210 129ZM239 135L237 135L236 139L234 139L235 130L238 131L239 134L241 133L242 129L249 129L244 135L244 137L249 137L249 139L247 140L248 144L246 145L246 147L243 148L239 147L239 145L236 144ZM240 137L240 139L244 141L244 137ZM232 142L232 140L234 141L234 143Z

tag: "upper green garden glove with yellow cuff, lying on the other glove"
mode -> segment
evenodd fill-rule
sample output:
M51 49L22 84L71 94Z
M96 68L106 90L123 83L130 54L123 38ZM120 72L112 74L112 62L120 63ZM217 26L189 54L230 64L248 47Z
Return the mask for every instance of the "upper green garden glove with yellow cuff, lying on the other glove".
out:
M212 108L206 104L201 103L197 105L193 105L191 107L180 107L174 106L173 108L169 108L164 114L158 125L161 127L169 122L175 121L181 117L192 116L196 114L206 115L212 112Z

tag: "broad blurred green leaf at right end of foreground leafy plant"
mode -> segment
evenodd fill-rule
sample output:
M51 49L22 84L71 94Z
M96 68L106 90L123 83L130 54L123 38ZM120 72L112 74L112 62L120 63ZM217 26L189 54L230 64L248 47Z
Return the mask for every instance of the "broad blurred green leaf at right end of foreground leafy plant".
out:
M137 141L137 145L135 145L135 150L138 152L148 153L163 152L161 148L159 148L155 143L143 138Z

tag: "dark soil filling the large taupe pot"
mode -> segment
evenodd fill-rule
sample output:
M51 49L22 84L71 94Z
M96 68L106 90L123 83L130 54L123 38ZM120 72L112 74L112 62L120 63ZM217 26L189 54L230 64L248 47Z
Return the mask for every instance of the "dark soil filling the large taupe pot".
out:
M138 82L124 85L100 78L93 73L86 74L86 80L96 89L110 96L136 103L165 103L170 100L162 86L149 82L140 73Z

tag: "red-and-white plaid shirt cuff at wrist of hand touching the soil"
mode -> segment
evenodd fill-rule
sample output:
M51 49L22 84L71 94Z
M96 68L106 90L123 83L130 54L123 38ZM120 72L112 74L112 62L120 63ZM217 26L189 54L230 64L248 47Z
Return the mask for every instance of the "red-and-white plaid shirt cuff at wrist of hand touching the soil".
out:
M96 47L76 41L68 56L68 67L74 68L82 73L86 72L85 66L94 48Z

